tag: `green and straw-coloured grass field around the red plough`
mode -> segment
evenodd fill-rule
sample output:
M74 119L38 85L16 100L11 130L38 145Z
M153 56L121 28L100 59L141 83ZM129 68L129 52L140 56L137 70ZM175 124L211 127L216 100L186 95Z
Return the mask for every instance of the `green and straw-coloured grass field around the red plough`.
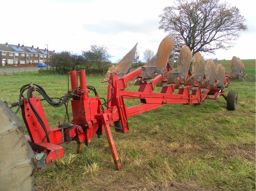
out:
M76 143L65 145L65 157L58 160L58 166L35 173L36 190L255 190L253 61L243 61L246 73L250 73L248 81L230 81L225 89L238 92L238 110L226 110L225 99L220 97L206 101L204 107L164 105L139 114L129 118L130 131L126 134L112 129L121 171L115 171L104 134L100 139L95 137L90 147L83 145L82 154L76 154ZM101 79L88 76L87 83L106 98L107 83L101 84ZM18 100L19 88L29 82L41 85L49 96L60 97L67 92L67 76L3 74L0 81L0 99L9 103ZM43 107L51 127L63 122L65 108L56 109L46 103ZM18 116L21 118L20 112Z

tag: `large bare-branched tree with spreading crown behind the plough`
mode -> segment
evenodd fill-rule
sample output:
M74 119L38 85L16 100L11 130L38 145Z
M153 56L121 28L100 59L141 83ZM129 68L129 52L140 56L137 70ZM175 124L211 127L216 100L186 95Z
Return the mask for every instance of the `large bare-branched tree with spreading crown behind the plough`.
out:
M193 55L233 47L239 32L247 30L240 10L219 0L176 0L159 17L159 29L173 38L173 50L179 52L187 45Z

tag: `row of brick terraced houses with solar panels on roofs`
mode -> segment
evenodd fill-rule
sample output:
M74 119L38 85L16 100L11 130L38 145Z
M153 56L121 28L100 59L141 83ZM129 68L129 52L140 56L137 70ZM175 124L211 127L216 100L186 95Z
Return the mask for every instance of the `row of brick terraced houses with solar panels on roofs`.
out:
M18 44L0 44L0 66L31 66L51 62L55 51Z

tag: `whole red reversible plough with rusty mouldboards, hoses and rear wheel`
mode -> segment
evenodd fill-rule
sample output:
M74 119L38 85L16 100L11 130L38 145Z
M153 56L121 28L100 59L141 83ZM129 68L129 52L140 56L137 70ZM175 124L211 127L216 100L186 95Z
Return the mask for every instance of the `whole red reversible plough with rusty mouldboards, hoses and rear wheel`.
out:
M212 60L205 63L203 57L196 54L190 71L192 54L185 46L178 58L177 69L174 69L173 59L169 60L172 46L172 38L164 38L157 54L146 66L127 72L134 58L135 46L120 64L112 66L106 74L103 80L108 81L105 103L101 102L95 88L87 86L85 70L70 71L71 90L59 102L53 102L43 88L36 84L23 86L21 95L27 90L27 98L21 103L23 119L29 132L26 139L37 153L34 157L37 168L47 168L63 157L61 145L76 141L77 153L81 153L83 143L89 146L96 134L100 137L105 132L115 168L119 170L121 164L111 126L116 132L125 133L129 131L128 118L134 115L164 104L200 105L206 99L218 99L219 96L227 101L228 110L237 108L237 93L225 95L224 88L228 87L230 76L221 64L216 67ZM138 91L127 91L128 83L139 85ZM161 87L160 92L155 92L156 86ZM95 92L95 97L88 96L89 90ZM33 96L34 91L41 93L54 107L60 107L72 99L72 122L50 128L40 98ZM127 107L125 99L139 99L140 104Z

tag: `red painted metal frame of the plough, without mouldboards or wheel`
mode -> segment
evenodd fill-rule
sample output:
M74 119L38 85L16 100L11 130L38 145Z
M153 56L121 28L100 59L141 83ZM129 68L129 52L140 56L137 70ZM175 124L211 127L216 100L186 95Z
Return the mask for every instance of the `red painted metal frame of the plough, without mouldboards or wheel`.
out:
M172 69L167 65L166 70L164 70L165 74L170 71ZM29 132L29 136L26 138L34 151L48 154L46 163L54 162L63 157L62 144L75 140L78 144L77 153L80 153L82 149L81 143L85 143L88 146L95 134L100 136L106 132L115 168L119 170L121 164L110 126L114 125L116 132L125 133L129 131L129 117L154 110L164 104L202 104L204 99L218 99L219 96L226 97L223 89L218 87L215 89L198 88L197 82L194 85L184 85L183 79L178 79L177 84L167 84L166 78L160 74L149 81L141 81L138 91L126 91L127 83L130 80L141 79L142 69L140 67L122 77L118 77L117 73L110 74L107 88L107 109L101 110L102 103L98 95L92 98L88 96L85 70L80 70L78 74L80 88L78 88L77 84L77 72L70 72L71 89L73 91L76 90L76 96L73 96L71 101L73 111L71 124L50 128L40 99L37 97L31 98L33 106L46 126L50 143L47 143L45 131L31 111L27 99L24 99L22 107L23 119ZM229 84L228 78L226 73L225 88ZM159 82L162 83L162 89L160 92L155 92L155 85ZM175 93L176 89L177 93ZM124 102L125 99L139 99L140 104L127 107Z

